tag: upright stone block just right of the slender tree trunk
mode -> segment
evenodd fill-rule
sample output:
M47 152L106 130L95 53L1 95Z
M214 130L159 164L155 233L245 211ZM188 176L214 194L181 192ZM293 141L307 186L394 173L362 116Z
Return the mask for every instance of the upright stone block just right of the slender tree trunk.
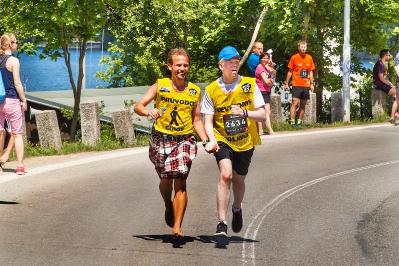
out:
M94 146L101 139L99 105L97 102L87 101L80 103L79 107L82 142Z

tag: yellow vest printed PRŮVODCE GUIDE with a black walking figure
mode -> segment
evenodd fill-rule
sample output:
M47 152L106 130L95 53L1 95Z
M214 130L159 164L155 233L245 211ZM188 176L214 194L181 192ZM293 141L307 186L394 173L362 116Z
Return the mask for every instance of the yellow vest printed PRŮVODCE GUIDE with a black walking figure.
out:
M200 97L200 88L189 82L187 90L178 93L172 88L169 78L158 79L158 94L155 108L166 111L154 123L156 131L184 135L193 133L192 111Z

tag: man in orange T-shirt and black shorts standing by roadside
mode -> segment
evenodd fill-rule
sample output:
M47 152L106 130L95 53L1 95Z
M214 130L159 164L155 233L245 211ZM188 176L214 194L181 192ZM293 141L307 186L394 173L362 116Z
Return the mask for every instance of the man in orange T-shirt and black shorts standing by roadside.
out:
M305 114L306 102L310 98L309 89L315 90L313 85L313 70L315 64L312 56L306 54L308 44L306 41L298 42L299 53L291 56L288 63L288 73L284 90L289 90L288 84L292 77L292 104L290 109L291 127L302 126L302 119ZM296 110L299 104L298 121L295 125Z

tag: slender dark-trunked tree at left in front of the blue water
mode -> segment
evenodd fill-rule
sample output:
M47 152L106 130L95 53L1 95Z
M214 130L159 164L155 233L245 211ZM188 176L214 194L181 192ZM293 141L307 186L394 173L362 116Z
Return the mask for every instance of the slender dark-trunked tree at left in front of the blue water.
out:
M19 49L27 54L35 54L36 46L45 42L40 58L50 57L56 61L62 58L69 74L72 87L74 108L70 129L70 140L75 140L80 94L83 80L83 58L86 42L95 38L106 24L107 5L102 0L1 0L0 24L8 32L17 33L17 37L33 37ZM76 41L76 44L73 43ZM69 48L78 45L79 71L75 79L70 64Z

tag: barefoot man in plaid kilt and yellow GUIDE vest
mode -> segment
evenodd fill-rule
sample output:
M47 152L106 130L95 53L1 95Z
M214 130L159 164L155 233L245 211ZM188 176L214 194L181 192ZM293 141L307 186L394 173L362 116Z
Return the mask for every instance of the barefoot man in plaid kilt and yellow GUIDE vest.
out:
M173 227L173 239L180 240L184 237L180 228L188 201L186 179L192 160L197 155L193 129L207 152L212 152L217 146L208 143L200 119L200 88L185 80L189 72L189 53L184 48L172 49L167 65L172 77L158 79L137 103L134 111L155 120L149 156L161 179L159 189L165 201L165 221ZM147 110L145 107L153 100L155 108ZM163 108L166 111L161 113ZM175 197L171 201L173 188Z

